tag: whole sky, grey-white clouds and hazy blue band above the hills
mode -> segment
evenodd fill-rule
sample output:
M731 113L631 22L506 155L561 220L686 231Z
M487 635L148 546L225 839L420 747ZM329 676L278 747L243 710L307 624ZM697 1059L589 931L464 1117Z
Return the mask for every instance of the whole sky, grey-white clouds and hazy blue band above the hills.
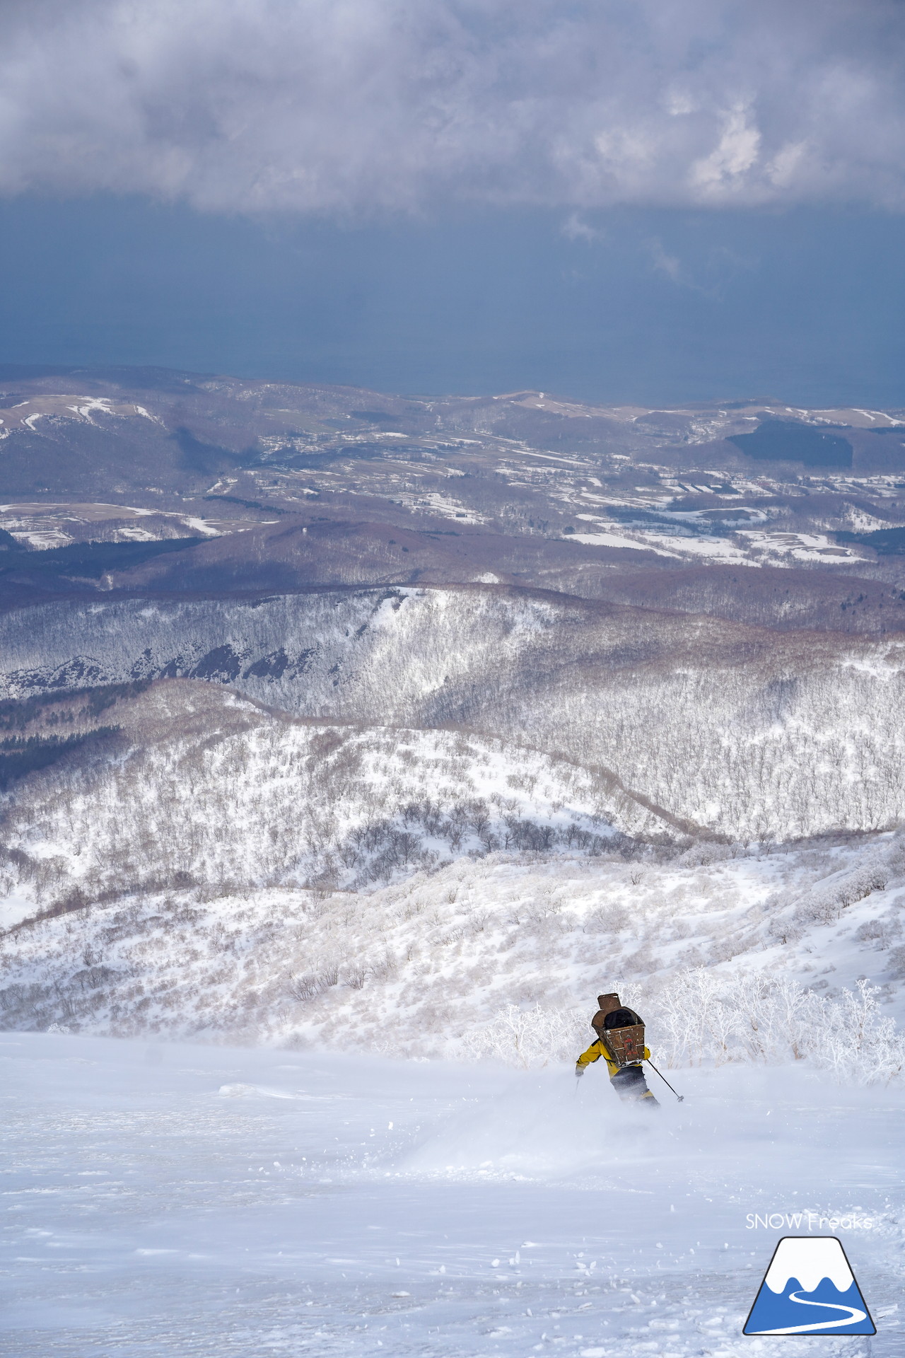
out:
M905 405L905 14L31 0L0 363Z

